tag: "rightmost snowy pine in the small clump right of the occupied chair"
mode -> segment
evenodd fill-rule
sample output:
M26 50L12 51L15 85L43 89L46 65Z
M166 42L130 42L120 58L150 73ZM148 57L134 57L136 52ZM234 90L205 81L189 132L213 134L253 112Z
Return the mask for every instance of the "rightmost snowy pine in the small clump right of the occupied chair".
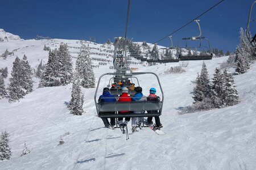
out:
M236 90L236 84L234 84L234 78L229 70L225 69L223 73L223 100L225 105L235 105L239 102L238 92Z

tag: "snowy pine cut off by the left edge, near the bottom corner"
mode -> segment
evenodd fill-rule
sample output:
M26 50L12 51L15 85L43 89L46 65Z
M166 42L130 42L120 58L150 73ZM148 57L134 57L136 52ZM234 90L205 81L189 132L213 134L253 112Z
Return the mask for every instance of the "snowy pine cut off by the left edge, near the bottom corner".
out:
M2 132L0 136L0 160L11 158L11 148L9 146L9 133Z

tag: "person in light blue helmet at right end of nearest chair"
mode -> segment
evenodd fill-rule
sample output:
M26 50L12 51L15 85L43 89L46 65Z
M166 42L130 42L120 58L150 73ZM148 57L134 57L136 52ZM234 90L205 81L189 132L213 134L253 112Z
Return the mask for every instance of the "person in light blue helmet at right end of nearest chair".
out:
M160 97L155 95L156 93L156 89L154 87L150 88L150 95L148 95L147 97L147 101L159 101ZM158 113L158 111L147 111L147 113ZM153 122L152 122L152 118L153 117L148 117L147 118L147 125L148 126L152 126ZM155 129L159 129L162 128L162 124L160 124L160 118L159 116L155 116Z

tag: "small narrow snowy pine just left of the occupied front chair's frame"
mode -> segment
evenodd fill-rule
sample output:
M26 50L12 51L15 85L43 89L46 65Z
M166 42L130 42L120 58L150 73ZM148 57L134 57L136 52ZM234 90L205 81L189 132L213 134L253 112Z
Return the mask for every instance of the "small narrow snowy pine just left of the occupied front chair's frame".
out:
M82 115L84 110L82 105L84 104L84 95L81 93L80 80L75 76L72 86L71 101L68 108L71 110L71 114Z

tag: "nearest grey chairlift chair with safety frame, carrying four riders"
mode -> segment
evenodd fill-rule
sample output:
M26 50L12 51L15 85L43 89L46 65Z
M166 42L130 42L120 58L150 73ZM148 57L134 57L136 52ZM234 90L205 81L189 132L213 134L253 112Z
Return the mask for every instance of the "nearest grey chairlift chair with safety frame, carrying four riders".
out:
M123 43L120 45L120 43ZM158 78L158 75L151 72L135 72L133 73L131 69L127 66L127 43L126 39L124 37L116 37L115 38L115 45L114 45L114 56L113 56L113 66L117 70L115 73L105 73L100 76L98 79L98 84L96 88L96 92L94 95L94 102L96 105L96 110L98 117L106 117L106 118L118 118L118 117L154 117L154 116L160 116L162 114L163 109L163 101L164 101L164 95L162 86L160 84L160 80ZM117 56L122 51L123 54L123 66L119 65L117 62ZM156 76L156 79L158 80L158 84L160 87L160 91L162 93L162 99L160 101L126 101L126 102L101 102L97 101L97 94L98 89L100 87L101 78L106 75L112 75L113 77L109 80L110 83L121 81L121 82L129 82L128 80L131 80L132 78L137 79L138 85L139 80L137 78L137 75L143 75L143 74L152 74ZM121 90L112 90L112 95L121 95ZM133 94L134 91L130 91L130 94ZM118 99L118 97L117 97ZM142 114L118 114L119 111L156 111L155 113L142 113ZM115 114L109 114L108 112L114 112Z

